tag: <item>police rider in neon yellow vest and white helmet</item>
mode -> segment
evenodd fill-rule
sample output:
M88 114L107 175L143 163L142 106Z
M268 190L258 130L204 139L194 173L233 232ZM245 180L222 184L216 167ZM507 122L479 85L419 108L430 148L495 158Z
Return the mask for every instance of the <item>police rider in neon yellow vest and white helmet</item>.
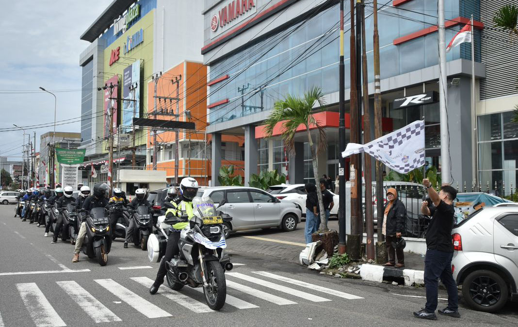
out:
M173 214L177 217L187 215L189 220L194 217L193 214L193 198L198 192L198 182L191 177L186 177L180 182L180 194L176 197L171 204L175 207ZM168 190L169 192L169 190ZM164 258L160 262L159 271L156 273L155 281L149 289L149 293L155 294L159 287L164 283L164 277L167 273L166 262L170 261L175 255L180 252L178 247L178 241L180 240L180 231L187 226L189 222L178 222L170 228L171 234L167 239L167 245L165 250Z

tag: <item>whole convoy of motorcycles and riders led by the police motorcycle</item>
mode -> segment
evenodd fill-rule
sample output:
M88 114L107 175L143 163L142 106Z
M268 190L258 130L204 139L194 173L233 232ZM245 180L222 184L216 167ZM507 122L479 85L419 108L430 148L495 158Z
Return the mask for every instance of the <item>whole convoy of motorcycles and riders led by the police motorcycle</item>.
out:
M207 305L213 310L219 310L226 298L224 273L233 268L225 253L227 244L223 223L232 221L232 217L217 210L225 200L214 204L209 197L195 196L198 190L195 179L184 178L178 189L178 194L174 187L167 191L160 209L163 215L157 221L153 221L151 205L142 201L140 196L128 204L125 194L115 188L113 197L106 201L104 197L109 191L106 183L95 184L92 195L89 187L81 187L76 202L68 201L66 205L60 199L73 195L71 187L56 188L54 191L47 189L45 194L40 194L36 189L27 190L28 196L20 195L15 206L15 217L19 216L22 221L28 219L30 223L36 222L38 227L44 225L45 236L48 232L54 233L52 243L60 237L62 241L70 241L75 245L79 241L78 236L84 234L81 252L90 259L95 258L101 266L108 262L114 239L121 238L125 242L132 240L136 247L148 251L151 262L164 261L161 265L165 264L165 278L169 288L180 291L184 286L202 287ZM135 193L145 191L138 189ZM100 196L104 202L95 202L96 198L100 200ZM93 198L88 200L88 197ZM103 205L88 206L94 202ZM81 233L83 222L85 233ZM55 235L55 231L59 235ZM166 259L166 247L170 246L168 242L176 243L176 240L178 253ZM150 289L151 294L157 291L153 287Z

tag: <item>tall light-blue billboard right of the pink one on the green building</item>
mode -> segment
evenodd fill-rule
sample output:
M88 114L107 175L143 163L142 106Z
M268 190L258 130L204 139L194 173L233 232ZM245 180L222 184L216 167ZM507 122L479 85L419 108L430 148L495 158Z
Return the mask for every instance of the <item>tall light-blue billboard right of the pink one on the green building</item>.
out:
M131 126L133 125L133 117L140 117L140 60L124 69L123 78L122 124Z

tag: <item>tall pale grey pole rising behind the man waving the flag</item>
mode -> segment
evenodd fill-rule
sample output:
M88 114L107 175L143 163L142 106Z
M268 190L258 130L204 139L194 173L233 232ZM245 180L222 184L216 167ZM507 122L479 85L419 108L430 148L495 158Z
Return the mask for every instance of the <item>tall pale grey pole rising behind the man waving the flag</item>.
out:
M444 0L439 0L437 5L439 27L439 112L441 128L441 177L443 185L451 183L450 167L450 138L448 135L448 113L446 112L446 102L448 97L447 72L446 72L446 42L444 40ZM473 40L471 40L473 42Z

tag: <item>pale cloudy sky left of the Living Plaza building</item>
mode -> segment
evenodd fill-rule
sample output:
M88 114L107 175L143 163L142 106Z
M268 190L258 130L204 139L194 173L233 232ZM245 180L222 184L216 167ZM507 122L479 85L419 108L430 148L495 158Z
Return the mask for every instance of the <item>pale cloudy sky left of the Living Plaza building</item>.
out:
M50 127L27 127L37 150L39 136L51 132L54 97L38 87L56 91L56 131L80 132L81 67L79 54L89 45L81 34L111 0L17 0L3 1L0 10L0 155L20 160L23 133L18 126L49 123ZM74 119L75 118L75 119ZM7 130L6 130L7 129ZM26 139L27 137L25 137Z

